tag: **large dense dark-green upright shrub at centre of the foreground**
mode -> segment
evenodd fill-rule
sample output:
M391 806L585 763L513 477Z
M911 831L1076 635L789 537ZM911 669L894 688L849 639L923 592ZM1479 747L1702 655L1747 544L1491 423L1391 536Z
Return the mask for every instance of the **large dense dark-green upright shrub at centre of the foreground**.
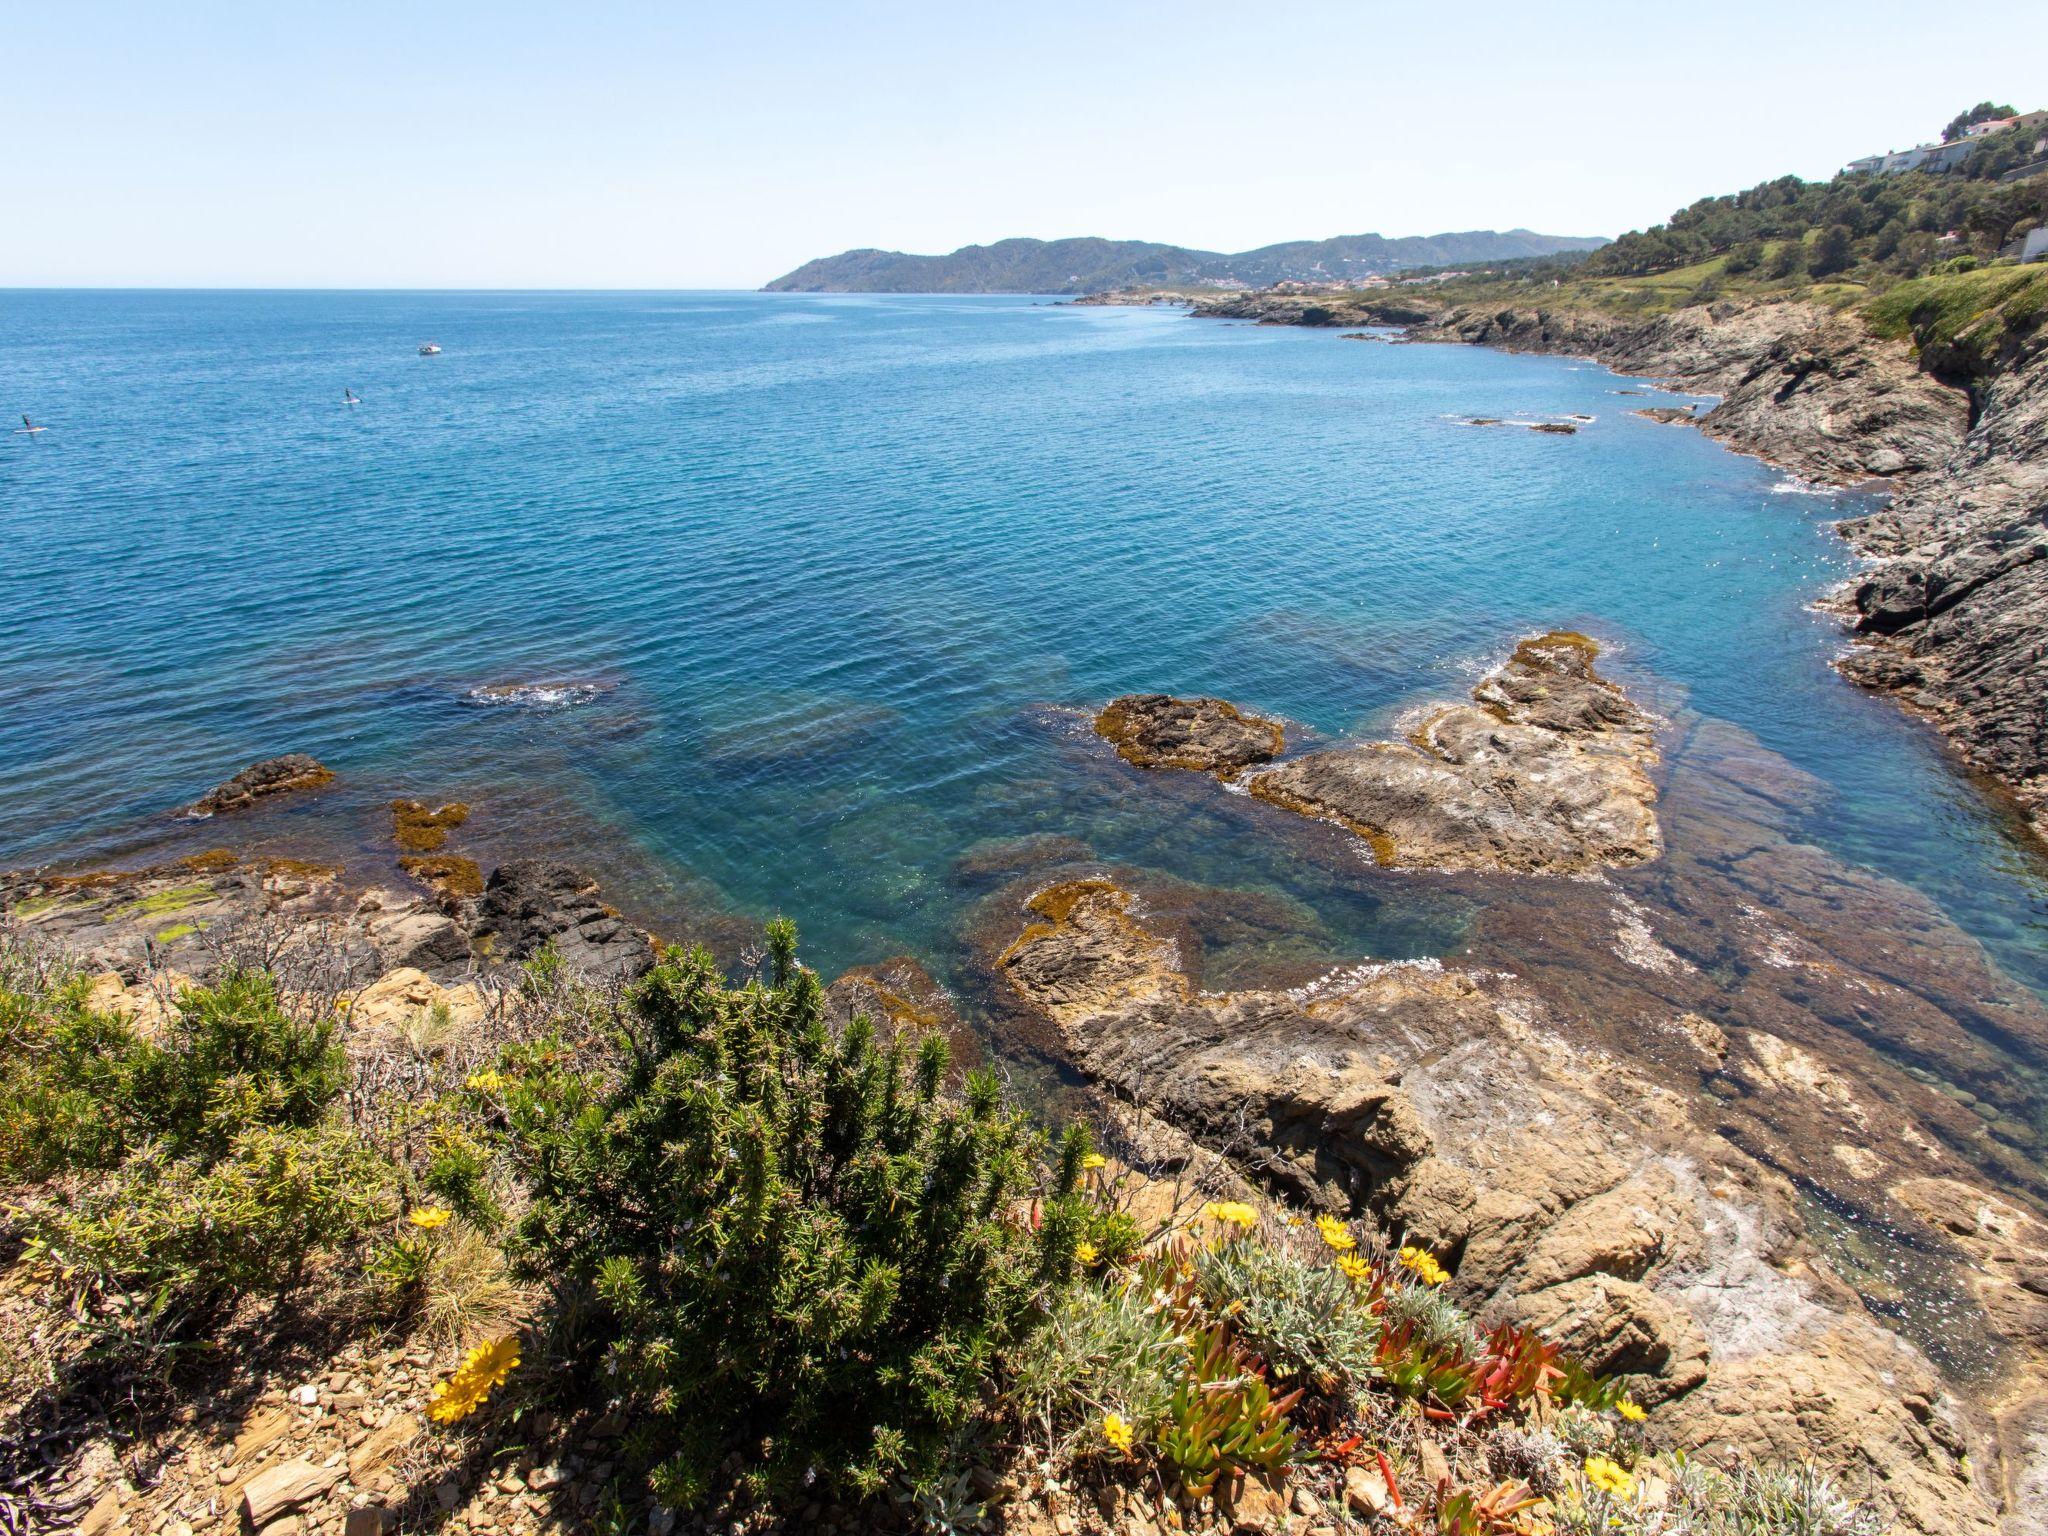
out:
M766 985L666 952L602 1092L547 1053L508 1063L520 1251L606 1311L662 1501L705 1497L731 1450L762 1495L930 1491L1077 1223L1032 1233L1034 1137L991 1075L954 1100L942 1036L834 1038L795 926L768 940ZM1049 1206L1077 1178L1063 1149Z

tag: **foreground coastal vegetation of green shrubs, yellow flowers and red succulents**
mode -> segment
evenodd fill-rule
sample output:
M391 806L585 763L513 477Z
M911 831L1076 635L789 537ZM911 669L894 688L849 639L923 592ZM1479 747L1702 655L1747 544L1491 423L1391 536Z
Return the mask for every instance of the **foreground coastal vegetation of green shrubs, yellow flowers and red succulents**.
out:
M545 1425L596 1421L614 1452L578 1524L602 1530L819 1507L971 1530L1075 1491L1243 1528L1290 1489L1352 1530L1874 1530L1810 1468L1661 1454L1626 1378L1475 1321L1427 1243L1249 1188L1147 1198L940 1032L834 1022L786 922L737 975L668 948L598 985L541 950L467 1030L442 1006L393 1038L332 975L272 946L139 1020L0 936L0 1178L35 1303L4 1339L16 1511L66 1409L176 1411L254 1313L440 1362L422 1481L379 1530L449 1487L432 1466L532 1464ZM244 1497L256 1528L289 1503Z

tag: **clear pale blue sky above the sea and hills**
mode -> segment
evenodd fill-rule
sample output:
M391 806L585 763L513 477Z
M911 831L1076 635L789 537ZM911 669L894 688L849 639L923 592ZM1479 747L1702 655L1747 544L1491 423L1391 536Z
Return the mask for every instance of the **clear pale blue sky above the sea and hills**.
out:
M1018 233L1618 233L1985 96L2048 106L2044 66L2042 0L16 0L0 285L758 287Z

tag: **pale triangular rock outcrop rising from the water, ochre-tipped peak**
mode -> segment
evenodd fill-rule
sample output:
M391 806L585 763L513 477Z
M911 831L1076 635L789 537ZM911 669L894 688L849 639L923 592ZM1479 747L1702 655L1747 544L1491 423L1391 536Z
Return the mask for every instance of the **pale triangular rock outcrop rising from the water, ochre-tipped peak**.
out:
M1393 868L1579 874L1655 858L1653 719L1593 670L1583 635L1524 641L1407 741L1313 752L1249 780L1337 821Z

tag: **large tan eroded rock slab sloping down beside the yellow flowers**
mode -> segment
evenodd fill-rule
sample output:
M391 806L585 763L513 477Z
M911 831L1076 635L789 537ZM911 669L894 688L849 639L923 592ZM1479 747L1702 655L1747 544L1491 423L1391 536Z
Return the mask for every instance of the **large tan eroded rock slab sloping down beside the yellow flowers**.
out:
M1862 1468L1901 1530L1999 1528L1968 1458L1995 1450L1821 1262L1792 1186L1526 985L1403 963L1204 993L1110 879L1038 891L1024 915L995 969L1085 1077L1253 1184L1430 1247L1466 1307L1632 1376L1661 1442ZM1679 1034L1690 1059L1731 1051L1704 1024ZM1825 1092L1796 1055L1747 1061L1765 1057L1784 1092ZM1915 1190L2028 1264L2034 1231L1970 1194Z

